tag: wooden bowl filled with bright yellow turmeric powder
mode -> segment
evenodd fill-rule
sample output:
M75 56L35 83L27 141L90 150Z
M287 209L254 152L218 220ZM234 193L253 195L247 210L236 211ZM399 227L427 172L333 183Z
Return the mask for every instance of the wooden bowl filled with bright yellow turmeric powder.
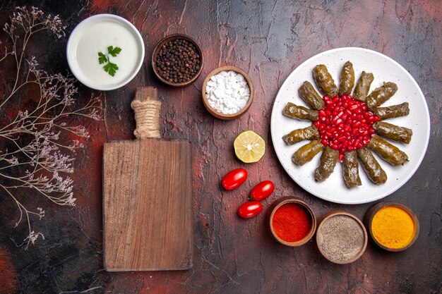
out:
M384 250L406 250L417 240L419 220L412 210L398 202L379 202L370 207L364 223L371 240Z

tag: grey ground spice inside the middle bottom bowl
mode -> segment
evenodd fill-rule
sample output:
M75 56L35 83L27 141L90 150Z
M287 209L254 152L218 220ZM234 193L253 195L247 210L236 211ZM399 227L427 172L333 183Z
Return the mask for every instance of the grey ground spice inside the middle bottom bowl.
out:
M331 216L321 223L317 235L318 247L337 262L349 261L364 248L364 231L350 216Z

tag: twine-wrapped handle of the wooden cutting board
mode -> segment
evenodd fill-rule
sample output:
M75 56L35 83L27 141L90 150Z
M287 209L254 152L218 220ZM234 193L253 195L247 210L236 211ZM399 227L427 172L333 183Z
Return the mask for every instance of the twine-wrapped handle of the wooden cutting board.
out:
M148 137L160 138L161 102L157 100L156 87L139 87L131 103L135 111L136 130L133 134L137 139Z

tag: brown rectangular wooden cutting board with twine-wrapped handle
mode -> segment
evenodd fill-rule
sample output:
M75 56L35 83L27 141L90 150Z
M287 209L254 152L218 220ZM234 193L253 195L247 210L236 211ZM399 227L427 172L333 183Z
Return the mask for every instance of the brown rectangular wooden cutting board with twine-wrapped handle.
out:
M137 140L104 143L104 269L189 269L193 247L191 145L161 139L156 88L138 88L131 106Z

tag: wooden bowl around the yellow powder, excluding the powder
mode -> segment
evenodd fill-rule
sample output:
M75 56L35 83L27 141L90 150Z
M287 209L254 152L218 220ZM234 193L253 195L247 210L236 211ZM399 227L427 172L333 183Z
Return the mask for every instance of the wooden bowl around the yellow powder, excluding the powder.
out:
M382 245L381 243L378 242L378 240L376 240L376 238L374 238L373 231L371 230L371 222L373 221L374 215L384 207L398 207L400 209L403 209L405 212L407 212L407 214L409 214L410 217L412 218L412 221L414 223L414 237L412 238L410 243L408 243L407 246L402 247L402 248L390 248L390 247L386 247L386 246ZM386 201L386 202L379 202L377 204L374 204L372 207L369 208L369 210L367 210L367 212L364 216L364 223L366 225L367 230L369 230L370 239L373 241L373 243L375 243L376 245L378 245L382 249L387 250L387 251L391 251L391 252L399 252L399 251L403 251L403 250L409 248L411 245L414 244L414 242L416 242L417 236L419 235L419 220L417 219L417 216L412 212L412 210L410 208L408 208L404 204L400 204L398 202Z

